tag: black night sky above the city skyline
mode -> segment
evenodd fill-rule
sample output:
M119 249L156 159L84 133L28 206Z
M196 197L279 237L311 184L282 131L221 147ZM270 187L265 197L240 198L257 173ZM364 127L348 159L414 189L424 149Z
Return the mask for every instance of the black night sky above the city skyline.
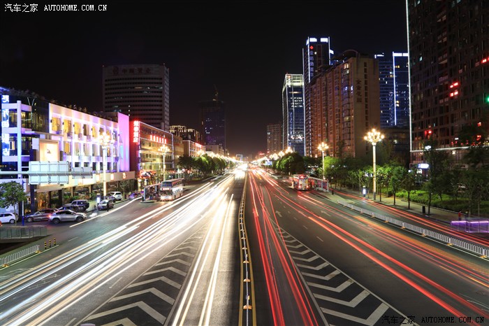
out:
M80 10L86 1L31 2L38 12L6 12L1 1L0 86L101 111L102 66L165 64L170 125L199 129L198 101L215 85L231 155L266 150L307 36L329 36L336 54L407 52L404 0L110 1L92 12ZM44 10L53 3L79 11Z

